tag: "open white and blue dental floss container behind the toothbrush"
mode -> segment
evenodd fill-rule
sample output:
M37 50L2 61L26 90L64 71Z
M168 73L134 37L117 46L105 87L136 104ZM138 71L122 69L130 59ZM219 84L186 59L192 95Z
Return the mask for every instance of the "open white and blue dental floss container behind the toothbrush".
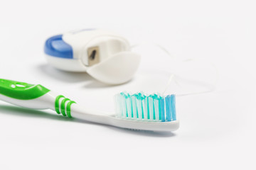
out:
M105 84L123 84L136 73L140 55L120 35L86 29L55 35L44 47L50 65L68 72L87 72Z

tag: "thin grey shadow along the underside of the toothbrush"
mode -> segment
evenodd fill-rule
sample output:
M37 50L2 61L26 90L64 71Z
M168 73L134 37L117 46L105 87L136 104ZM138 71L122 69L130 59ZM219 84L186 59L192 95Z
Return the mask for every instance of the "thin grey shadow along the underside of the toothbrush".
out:
M131 135L142 135L142 136L150 136L150 137L174 137L175 136L175 134L173 132L153 132L153 131L146 131L146 130L122 129L122 128L117 128L117 127L113 127L110 125L91 123L86 120L78 120L78 119L63 117L61 115L53 115L53 114L46 113L44 111L36 111L36 110L32 110L32 109L27 109L27 108L19 108L17 106L0 105L0 114L24 116L24 117L30 117L30 118L48 118L48 119L52 119L52 120L70 121L70 122L76 122L76 123L86 123L86 124L91 124L91 125L101 125L101 126L105 126L106 128L109 128L110 130L114 130L114 131L122 132L122 133L128 133Z

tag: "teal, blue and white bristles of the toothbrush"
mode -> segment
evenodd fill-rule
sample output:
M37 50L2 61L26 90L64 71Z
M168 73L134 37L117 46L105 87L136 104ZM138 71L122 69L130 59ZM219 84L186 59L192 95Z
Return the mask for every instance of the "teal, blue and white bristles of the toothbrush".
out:
M169 122L176 120L175 95L145 95L140 92L128 94L122 92L115 96L116 113L119 118Z

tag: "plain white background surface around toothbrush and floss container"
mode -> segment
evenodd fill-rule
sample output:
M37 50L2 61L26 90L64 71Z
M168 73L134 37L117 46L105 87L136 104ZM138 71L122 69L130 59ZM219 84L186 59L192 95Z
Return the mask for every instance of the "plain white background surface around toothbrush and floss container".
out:
M134 49L142 64L122 86L48 66L46 38L80 28L108 28L131 44L157 42L178 60L213 62L220 75L213 93L177 97L181 127L170 133L82 123L1 101L0 169L255 169L255 16L255 1L1 1L2 79L42 84L105 110L119 91L161 92L171 69L184 79L215 79L209 65L175 64L152 45ZM168 92L184 86L191 88L172 84Z

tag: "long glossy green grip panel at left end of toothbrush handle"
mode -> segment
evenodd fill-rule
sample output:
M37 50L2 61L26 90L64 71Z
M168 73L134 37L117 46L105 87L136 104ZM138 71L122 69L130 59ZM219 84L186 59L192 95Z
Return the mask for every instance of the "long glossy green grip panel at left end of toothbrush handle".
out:
M20 100L31 100L47 94L50 90L40 84L0 79L0 94Z

